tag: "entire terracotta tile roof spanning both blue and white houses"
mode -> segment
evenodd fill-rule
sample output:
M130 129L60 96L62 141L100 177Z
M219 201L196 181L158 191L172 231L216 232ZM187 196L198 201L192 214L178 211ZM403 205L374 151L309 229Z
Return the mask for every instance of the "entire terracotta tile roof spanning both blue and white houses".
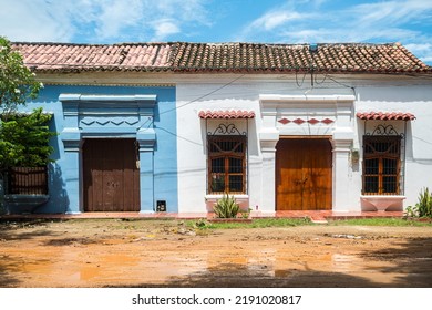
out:
M14 43L37 71L432 73L399 43Z

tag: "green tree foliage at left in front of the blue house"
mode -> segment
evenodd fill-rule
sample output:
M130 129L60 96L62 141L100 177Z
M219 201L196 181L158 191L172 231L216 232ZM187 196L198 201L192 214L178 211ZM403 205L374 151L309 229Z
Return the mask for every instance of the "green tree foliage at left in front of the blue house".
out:
M43 114L42 108L17 113L18 106L35 99L41 87L22 55L0 37L0 169L43 166L50 161L53 149L49 140L55 135L48 127L51 115Z

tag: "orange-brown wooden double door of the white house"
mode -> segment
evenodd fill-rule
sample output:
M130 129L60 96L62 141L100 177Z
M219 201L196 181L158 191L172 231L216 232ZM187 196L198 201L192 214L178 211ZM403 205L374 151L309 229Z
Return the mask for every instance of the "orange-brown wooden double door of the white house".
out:
M331 209L331 144L284 138L276 146L276 209Z

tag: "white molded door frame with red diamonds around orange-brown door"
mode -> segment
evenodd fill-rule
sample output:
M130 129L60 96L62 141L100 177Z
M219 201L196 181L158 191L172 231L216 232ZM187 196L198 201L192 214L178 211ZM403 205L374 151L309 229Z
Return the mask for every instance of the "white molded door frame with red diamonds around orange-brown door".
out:
M353 193L356 179L350 163L358 148L354 116L356 95L351 90L338 93L259 94L261 126L258 128L261 172L261 210L274 214L276 144L280 136L331 136L332 210L360 209L360 193Z

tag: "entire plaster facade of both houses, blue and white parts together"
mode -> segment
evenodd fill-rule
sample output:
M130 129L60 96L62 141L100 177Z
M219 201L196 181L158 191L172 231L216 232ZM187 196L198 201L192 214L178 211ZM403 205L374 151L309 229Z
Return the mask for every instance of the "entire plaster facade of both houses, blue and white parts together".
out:
M119 73L122 75L123 73ZM136 73L137 74L137 73ZM256 117L247 122L248 133L248 192L247 202L254 210L271 213L274 208L275 165L274 149L277 140L281 135L328 135L343 141L347 132L352 131L352 137L347 143L335 144L333 149L342 149L338 153L338 167L342 167L333 174L340 180L338 186L333 184L335 195L342 197L341 203L333 207L337 210L360 210L361 169L362 169L362 135L363 123L354 115L361 111L383 112L410 112L416 120L407 123L407 162L404 182L404 206L416 202L419 190L429 186L432 174L432 86L430 80L399 76L333 76L322 79L311 85L309 76L301 79L287 75L239 75L239 74L205 74L205 75L125 75L122 76L123 86L96 86L96 85L50 85L40 96L28 104L25 110L42 106L44 111L52 112L54 118L51 130L62 132L65 127L63 107L59 101L60 94L100 94L100 95L133 95L153 94L157 96L154 110L154 132L156 144L152 156L147 156L154 165L153 197L145 206L147 211L153 211L156 200L166 200L168 211L203 213L206 210L206 122L198 117L202 110L247 110L254 111ZM97 75L97 74L96 74ZM96 76L95 75L95 76ZM103 75L103 76L102 76ZM102 78L80 76L76 82L92 84L112 83L106 74ZM156 78L153 78L156 76ZM76 79L75 75L72 78ZM71 76L60 75L59 79L70 80ZM96 81L97 80L97 81ZM60 80L59 80L60 81ZM105 81L105 82L104 82ZM148 81L152 86L135 84ZM130 86L126 86L130 84ZM165 84L165 86L157 86ZM169 86L169 85L176 85ZM295 117L308 120L311 117L328 117L336 120L336 115L329 106L322 106L319 102L312 104L300 101L288 108L284 104L275 105L274 112L267 108L263 113L260 99L265 96L343 96L354 97L352 108L342 113L338 120L338 126L331 124L282 124L276 120ZM318 117L319 116L319 117ZM222 120L220 120L222 121ZM244 126L244 120L235 121L238 126ZM217 123L217 121L216 121ZM369 122L368 122L369 123ZM403 122L393 124L400 128ZM208 123L207 123L208 125ZM369 125L373 125L369 123ZM61 136L53 138L52 155L55 163L50 165L50 202L39 208L40 213L65 213L68 210L82 210L82 193L80 186L80 154L69 157L65 155ZM340 148L341 147L341 148ZM358 149L358 162L350 157L350 149ZM150 154L146 154L150 155ZM335 155L336 156L336 155ZM73 157L73 158L72 158ZM79 163L73 166L71 161ZM333 161L335 157L333 157ZM333 162L335 164L335 162ZM335 177L336 176L336 177ZM343 188L340 186L343 185ZM339 194L340 193L340 194ZM147 197L144 197L147 199Z

